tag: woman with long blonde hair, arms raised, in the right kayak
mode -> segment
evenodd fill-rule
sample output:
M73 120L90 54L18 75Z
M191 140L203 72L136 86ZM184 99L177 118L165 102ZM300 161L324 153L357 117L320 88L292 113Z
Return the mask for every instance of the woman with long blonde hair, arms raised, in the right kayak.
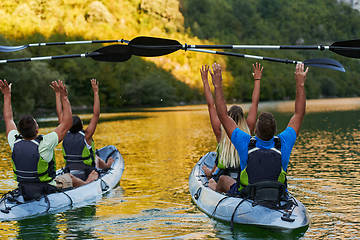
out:
M237 126L250 135L255 128L256 114L260 96L260 80L264 67L261 67L260 63L256 63L253 64L253 69L254 72L252 73L252 75L255 79L254 90L252 94L252 103L247 118L245 118L243 109L240 106L234 105L228 111L228 115L235 121ZM200 69L200 73L204 86L204 94L208 106L211 126L218 143L216 148L217 157L215 165L211 170L204 165L203 170L205 175L209 179L209 187L215 190L216 182L221 175L233 175L233 173L235 175L237 174L240 159L237 150L231 143L231 140L227 136L225 129L221 125L221 122L217 116L214 99L211 94L208 82L209 66L202 66L202 68Z

